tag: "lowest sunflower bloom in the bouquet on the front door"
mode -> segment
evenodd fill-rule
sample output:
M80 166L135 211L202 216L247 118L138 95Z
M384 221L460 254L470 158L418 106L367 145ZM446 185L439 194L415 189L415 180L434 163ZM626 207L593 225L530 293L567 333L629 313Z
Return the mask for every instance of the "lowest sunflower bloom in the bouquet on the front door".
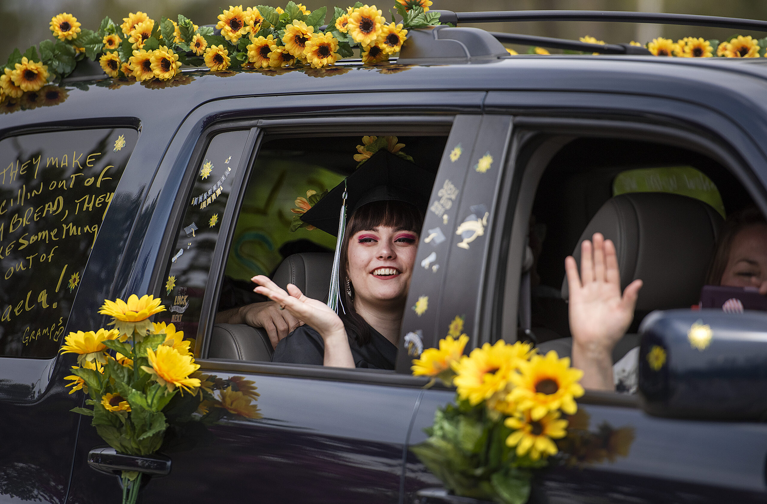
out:
M552 439L565 437L568 427L568 421L559 417L559 411L551 411L538 420L532 420L529 413L517 414L503 423L515 429L506 438L506 446L517 447L517 457L529 453L532 460L557 453L557 445Z

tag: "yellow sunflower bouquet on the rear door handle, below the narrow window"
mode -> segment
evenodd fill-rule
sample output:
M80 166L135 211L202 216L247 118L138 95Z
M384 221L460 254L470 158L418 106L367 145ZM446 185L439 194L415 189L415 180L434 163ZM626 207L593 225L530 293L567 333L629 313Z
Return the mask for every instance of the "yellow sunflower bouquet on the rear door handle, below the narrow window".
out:
M93 417L97 433L120 453L156 453L169 431L183 437L189 422L209 424L227 414L261 417L253 381L200 373L189 349L193 340L173 324L150 321L163 311L153 296L105 300L99 313L112 317L108 325L114 329L70 332L61 347L62 353L77 354L65 378L70 394L82 390L90 396L85 404L91 408L72 411ZM123 471L121 477L123 504L133 504L141 473Z

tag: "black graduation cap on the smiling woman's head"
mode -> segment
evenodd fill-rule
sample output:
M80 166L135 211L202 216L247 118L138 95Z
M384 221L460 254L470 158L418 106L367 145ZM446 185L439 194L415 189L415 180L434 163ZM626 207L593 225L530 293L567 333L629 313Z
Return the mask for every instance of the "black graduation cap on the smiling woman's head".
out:
M344 206L344 190L347 191L347 216L367 203L389 200L406 201L426 213L434 178L433 173L386 149L380 149L306 211L301 221L337 236L339 212Z

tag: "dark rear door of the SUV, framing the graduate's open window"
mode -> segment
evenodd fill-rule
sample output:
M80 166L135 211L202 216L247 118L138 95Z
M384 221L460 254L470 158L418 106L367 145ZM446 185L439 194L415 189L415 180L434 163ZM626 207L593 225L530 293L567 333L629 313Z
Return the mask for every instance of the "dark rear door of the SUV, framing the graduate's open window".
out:
M471 95L470 101L454 100L452 105L475 107L478 111L482 93L467 94ZM314 105L331 98L312 97L311 102ZM334 100L341 110L355 103L348 95ZM399 103L401 98L378 93L375 99L368 96L366 100ZM229 106L240 113L243 110L239 103L216 106ZM274 100L274 106L284 107L280 100ZM259 100L258 110L264 108L265 100ZM357 117L219 123L203 130L190 152L179 154L186 159L180 193L175 208L169 209L172 223L168 224L168 218L157 219L165 236L163 244L156 247L161 254L151 283L160 287L160 295L167 299L168 322L183 327L186 335L196 335L199 352L205 352L213 326L223 264L245 185L249 180L270 176L253 169L258 146L266 134L284 132L288 127L294 131L316 130L318 125L355 137L370 129L410 128L420 134L433 129L449 133L450 139L459 139L467 150L472 149L476 138L476 121L471 115L443 113L430 117L398 112L395 116L371 116L369 107L366 113ZM203 123L205 117L200 114L189 120ZM190 127L189 134L195 134L193 131ZM184 129L181 132L186 133ZM443 154L439 166L446 163L451 163L449 152ZM207 177L203 170L206 167L211 169ZM203 208L202 202L206 202ZM264 205L265 201L251 203ZM214 213L218 220L211 221ZM195 225L190 227L192 223ZM154 232L150 229L147 234ZM168 283L170 277L174 277L173 283ZM212 358L199 358L197 362L206 375L252 381L258 391L258 417L220 421L199 436L189 437L186 446L166 450L172 460L170 476L150 480L143 502L400 500L404 446L425 380L393 371ZM118 495L117 478L94 473L84 463L88 451L103 444L89 427L81 428L71 493L77 499L73 502L100 502L97 496Z

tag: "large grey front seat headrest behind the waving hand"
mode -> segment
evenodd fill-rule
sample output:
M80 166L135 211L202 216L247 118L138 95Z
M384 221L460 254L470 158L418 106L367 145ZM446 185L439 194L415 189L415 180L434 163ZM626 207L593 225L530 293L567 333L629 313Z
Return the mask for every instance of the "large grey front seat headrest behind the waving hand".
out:
M613 241L621 291L640 278L637 311L686 308L698 303L723 219L703 201L661 192L637 192L607 200L581 234L573 257L581 266L581 243L600 232ZM568 299L568 280L562 282Z

